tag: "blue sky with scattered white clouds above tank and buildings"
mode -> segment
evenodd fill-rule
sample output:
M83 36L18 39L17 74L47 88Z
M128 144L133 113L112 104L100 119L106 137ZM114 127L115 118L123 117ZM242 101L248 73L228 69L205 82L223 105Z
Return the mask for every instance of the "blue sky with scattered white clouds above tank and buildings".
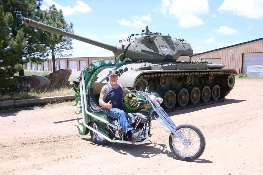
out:
M263 38L263 0L43 0L55 4L75 34L116 45L130 34L151 32L184 38L201 53ZM113 52L73 41L71 57L113 56Z

